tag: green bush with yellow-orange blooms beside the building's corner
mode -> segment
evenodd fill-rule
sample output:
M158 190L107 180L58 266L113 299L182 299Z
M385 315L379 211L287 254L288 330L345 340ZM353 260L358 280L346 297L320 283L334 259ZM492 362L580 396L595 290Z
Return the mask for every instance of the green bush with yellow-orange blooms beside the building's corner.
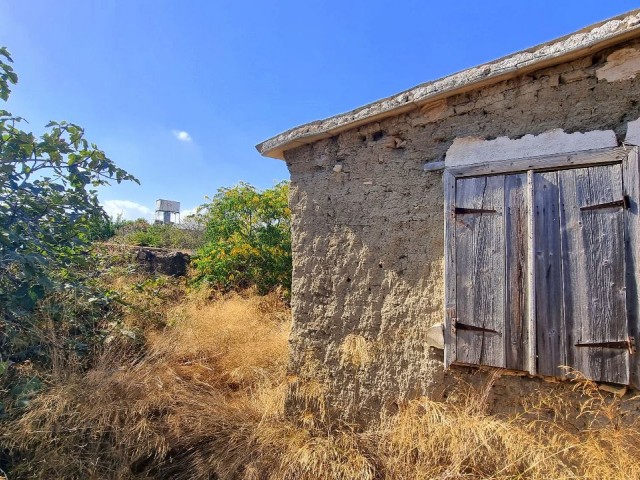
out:
M201 207L207 244L193 261L196 281L223 290L291 289L289 184L262 192L246 183L221 188Z

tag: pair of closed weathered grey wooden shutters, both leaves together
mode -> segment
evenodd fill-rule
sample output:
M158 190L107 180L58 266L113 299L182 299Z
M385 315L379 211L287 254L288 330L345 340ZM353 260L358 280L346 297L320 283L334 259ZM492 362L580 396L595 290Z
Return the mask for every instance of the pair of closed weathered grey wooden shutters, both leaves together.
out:
M452 185L449 361L629 383L622 165Z

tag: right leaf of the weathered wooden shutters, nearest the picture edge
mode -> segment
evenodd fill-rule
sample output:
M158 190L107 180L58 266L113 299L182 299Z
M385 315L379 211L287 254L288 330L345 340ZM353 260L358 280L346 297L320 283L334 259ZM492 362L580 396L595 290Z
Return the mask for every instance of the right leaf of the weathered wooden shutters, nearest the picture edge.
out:
M628 383L621 165L535 173L537 373Z

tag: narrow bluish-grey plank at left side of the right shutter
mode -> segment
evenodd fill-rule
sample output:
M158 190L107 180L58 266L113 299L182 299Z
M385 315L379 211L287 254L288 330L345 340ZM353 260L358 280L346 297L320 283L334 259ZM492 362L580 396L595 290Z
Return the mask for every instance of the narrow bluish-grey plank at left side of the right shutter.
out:
M535 173L534 268L536 312L536 371L562 376L567 364L562 304L562 260L558 172Z

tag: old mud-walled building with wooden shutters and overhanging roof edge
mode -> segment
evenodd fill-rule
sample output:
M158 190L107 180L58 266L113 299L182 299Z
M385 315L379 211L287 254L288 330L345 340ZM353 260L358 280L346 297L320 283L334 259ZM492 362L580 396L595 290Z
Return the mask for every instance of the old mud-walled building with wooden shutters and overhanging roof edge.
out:
M291 174L290 407L496 367L496 409L562 366L639 387L638 145L640 10L259 144Z

